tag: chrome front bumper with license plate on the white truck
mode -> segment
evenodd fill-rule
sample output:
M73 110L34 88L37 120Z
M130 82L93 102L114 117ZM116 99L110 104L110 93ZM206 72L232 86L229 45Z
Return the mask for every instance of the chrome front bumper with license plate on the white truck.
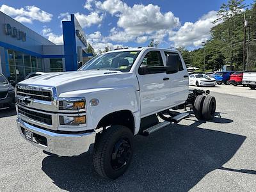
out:
M84 152L88 152L90 145L95 142L96 132L86 132L82 134L59 134L56 132L46 131L33 125L17 119L17 127L20 135L25 139L25 130L33 133L32 141L29 143L38 148L58 154L60 156L78 156ZM40 142L44 139L46 142Z

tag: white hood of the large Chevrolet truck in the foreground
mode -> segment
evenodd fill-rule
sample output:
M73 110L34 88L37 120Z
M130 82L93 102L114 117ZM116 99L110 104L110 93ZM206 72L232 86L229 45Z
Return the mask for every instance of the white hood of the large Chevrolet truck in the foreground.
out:
M45 74L42 76L31 77L19 84L56 87L58 95L74 90L131 85L136 85L136 90L138 90L138 81L136 81L135 74L115 70L81 70L75 72Z

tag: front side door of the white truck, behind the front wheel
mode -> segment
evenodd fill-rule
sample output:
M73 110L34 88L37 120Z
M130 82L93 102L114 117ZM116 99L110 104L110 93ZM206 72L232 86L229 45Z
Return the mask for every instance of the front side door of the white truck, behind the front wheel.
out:
M170 79L166 74L163 52L145 51L138 68L141 116L151 115L170 105Z

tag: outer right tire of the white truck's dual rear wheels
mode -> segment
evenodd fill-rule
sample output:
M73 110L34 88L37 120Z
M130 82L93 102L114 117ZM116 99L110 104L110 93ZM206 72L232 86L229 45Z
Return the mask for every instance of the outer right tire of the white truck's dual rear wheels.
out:
M207 96L204 100L202 115L204 120L212 120L215 116L216 100L215 97Z

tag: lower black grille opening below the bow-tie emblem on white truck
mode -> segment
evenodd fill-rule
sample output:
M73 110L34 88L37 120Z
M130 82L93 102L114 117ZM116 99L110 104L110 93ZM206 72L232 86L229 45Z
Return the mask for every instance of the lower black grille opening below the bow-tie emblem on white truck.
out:
M44 113L38 113L35 111L31 111L29 109L20 108L18 106L18 113L27 116L28 118L31 118L33 120L36 120L38 122L42 122L47 125L52 125L52 116Z

